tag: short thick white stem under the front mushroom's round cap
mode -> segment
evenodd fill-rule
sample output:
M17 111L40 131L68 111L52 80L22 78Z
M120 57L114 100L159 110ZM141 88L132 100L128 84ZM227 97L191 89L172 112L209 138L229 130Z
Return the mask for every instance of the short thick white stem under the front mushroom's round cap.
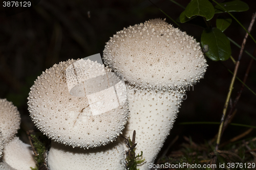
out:
M48 165L51 170L125 170L124 155L120 142L89 150L52 142Z

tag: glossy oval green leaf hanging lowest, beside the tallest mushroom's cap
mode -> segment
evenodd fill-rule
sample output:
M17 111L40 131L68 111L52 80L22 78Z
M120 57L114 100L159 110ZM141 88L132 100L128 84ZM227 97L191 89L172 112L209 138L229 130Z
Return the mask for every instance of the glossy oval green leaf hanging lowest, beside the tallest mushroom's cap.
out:
M201 44L206 56L213 61L225 61L231 55L230 42L218 28L205 29L201 36Z

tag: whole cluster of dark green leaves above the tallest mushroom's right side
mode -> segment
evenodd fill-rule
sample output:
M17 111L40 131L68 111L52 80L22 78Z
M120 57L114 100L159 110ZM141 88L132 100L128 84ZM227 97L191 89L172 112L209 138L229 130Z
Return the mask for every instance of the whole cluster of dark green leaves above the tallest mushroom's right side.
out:
M191 0L177 21L184 23L191 20L190 23L193 23L194 18L203 17L205 21L201 35L203 52L213 61L225 61L231 56L231 47L229 39L223 32L230 26L232 19L219 15L216 19L216 27L212 26L210 21L215 14L242 12L248 9L249 6L240 0L217 3L216 6L208 0Z

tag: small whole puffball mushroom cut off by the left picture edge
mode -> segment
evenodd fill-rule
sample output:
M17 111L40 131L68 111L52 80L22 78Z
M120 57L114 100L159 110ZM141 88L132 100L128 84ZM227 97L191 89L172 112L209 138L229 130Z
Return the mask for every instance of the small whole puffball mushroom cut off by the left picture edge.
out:
M0 129L4 143L0 169L30 169L35 167L34 153L29 144L15 137L20 126L20 114L11 102L0 99Z

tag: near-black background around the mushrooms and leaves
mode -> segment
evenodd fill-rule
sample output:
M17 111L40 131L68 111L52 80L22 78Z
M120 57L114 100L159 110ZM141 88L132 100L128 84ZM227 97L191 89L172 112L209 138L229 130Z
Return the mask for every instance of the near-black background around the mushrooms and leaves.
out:
M168 0L153 2L174 19L178 18L183 11ZM183 6L189 3L188 0L177 2ZM252 0L244 2L250 9L232 14L247 29L252 13L256 11L256 3ZM27 141L25 132L34 129L27 110L28 93L33 81L46 68L71 58L78 59L97 53L102 54L105 42L108 42L113 34L124 27L133 26L148 19L166 18L168 23L177 27L150 1L145 0L41 0L34 8L8 17L2 5L0 10L0 98L13 102L22 114L22 125L18 135L24 141ZM215 20L218 15L211 20L214 27L216 27ZM221 15L230 17L226 13ZM187 34L193 35L200 41L203 28L187 23L182 24L182 27ZM245 36L245 31L234 20L224 33L240 45ZM256 37L256 26L251 34ZM254 47L255 43L248 38L245 50L252 54ZM231 48L233 58L237 59L240 49L232 43ZM249 61L250 57L244 54L238 70L240 79L243 79ZM230 59L224 62L207 59L207 64L209 66L204 79L194 86L194 91L190 89L187 92L187 100L182 103L164 148L177 135L180 138L170 150L179 149L179 144L184 142L182 136L191 136L193 141L204 143L218 132L218 125L179 125L181 122L220 122L232 77L227 68L233 71L234 64ZM246 84L256 91L255 62L252 64ZM241 83L236 81L231 95L232 100L240 87ZM256 126L255 100L256 96L245 88L237 105L238 111L233 123ZM229 126L222 141L237 136L247 129ZM250 136L256 136L255 130L247 135L247 137Z

